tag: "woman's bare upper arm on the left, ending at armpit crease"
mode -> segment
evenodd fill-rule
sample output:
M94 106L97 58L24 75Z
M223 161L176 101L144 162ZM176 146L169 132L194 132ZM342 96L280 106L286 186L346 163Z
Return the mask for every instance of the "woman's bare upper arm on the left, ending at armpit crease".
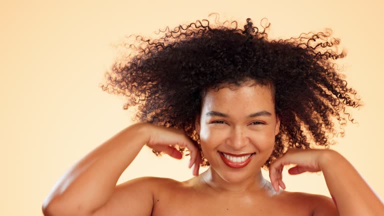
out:
M150 215L156 177L139 177L116 185L108 201L91 216Z

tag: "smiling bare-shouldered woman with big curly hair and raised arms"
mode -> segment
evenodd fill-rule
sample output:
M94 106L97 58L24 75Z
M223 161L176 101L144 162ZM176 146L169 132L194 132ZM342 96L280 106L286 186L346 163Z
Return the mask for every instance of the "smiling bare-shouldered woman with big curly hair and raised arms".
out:
M384 214L353 166L328 149L339 133L332 117L342 129L345 107L361 105L331 61L346 54L332 50L339 39L327 41L328 29L268 40L269 25L258 32L249 18L243 30L203 21L141 39L144 48L129 44L138 52L116 61L101 87L126 95L125 109L139 105L138 122L68 170L46 197L44 215ZM116 185L143 145L177 159L188 150L194 177ZM290 174L322 171L333 200L283 190L287 164L296 165ZM200 165L209 168L198 174Z

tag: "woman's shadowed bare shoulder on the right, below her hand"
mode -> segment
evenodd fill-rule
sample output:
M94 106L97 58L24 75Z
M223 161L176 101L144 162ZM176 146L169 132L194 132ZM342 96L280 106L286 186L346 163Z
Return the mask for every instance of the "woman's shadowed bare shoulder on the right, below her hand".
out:
M306 192L288 192L284 191L288 197L300 203L305 203L312 209L312 216L337 216L338 211L333 199L321 194Z

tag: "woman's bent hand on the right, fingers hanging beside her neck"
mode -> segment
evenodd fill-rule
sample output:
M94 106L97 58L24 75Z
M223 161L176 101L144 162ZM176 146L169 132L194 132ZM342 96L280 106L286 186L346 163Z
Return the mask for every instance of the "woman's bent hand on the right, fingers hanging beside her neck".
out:
M282 181L282 169L284 165L295 164L296 166L288 169L289 174L300 174L305 171L318 172L321 171L320 160L329 149L288 149L281 157L276 159L269 166L269 178L275 191L278 191L279 185L285 189Z

